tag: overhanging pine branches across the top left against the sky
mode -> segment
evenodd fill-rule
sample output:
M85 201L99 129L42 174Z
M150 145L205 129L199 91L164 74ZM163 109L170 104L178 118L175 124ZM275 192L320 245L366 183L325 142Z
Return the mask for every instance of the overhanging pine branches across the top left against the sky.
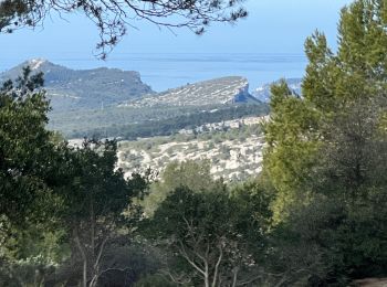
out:
M51 11L82 11L100 31L98 56L106 54L127 33L135 21L145 20L158 28L187 28L202 34L211 22L234 23L247 17L244 0L3 0L0 2L0 32L36 26ZM174 32L174 31L172 31Z

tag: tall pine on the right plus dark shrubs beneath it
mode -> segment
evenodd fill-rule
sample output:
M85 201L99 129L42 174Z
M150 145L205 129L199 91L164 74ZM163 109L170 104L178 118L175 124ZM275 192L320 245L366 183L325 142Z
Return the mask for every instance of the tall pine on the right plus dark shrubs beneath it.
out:
M290 284L302 277L310 285L344 285L387 274L380 217L387 187L385 15L385 1L354 1L342 10L336 54L322 33L306 40L303 97L284 83L272 88L264 169L276 190L276 258L292 263L278 268L293 274Z

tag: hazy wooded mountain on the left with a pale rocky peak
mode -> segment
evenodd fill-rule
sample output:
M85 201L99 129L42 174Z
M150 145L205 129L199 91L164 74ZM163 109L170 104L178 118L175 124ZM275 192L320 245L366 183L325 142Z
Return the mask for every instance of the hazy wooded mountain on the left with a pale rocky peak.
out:
M30 60L0 74L0 82L17 78L23 66L44 73L44 85L54 110L101 108L153 94L138 72L118 68L71 70L46 60Z

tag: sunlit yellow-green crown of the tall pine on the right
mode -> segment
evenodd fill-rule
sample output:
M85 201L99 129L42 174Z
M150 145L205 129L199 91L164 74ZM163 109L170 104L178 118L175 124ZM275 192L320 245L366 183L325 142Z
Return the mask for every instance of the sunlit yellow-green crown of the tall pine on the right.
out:
M369 150L370 141L378 137L384 146L386 138L386 15L383 0L358 0L344 8L337 53L330 50L323 33L315 32L305 42L308 65L302 96L292 95L285 83L272 87L264 166L281 194L280 217L285 216L286 204L307 202L322 161L338 164L341 158L336 177L347 177L343 179L347 189L358 188L370 177L363 174L369 171L369 155L376 151Z

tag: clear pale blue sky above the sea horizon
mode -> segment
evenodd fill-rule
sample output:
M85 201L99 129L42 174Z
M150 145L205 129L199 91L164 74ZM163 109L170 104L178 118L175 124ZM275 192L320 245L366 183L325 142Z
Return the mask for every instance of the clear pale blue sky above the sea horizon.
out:
M109 54L106 63L93 56L97 30L85 18L64 15L67 21L52 17L44 28L19 30L0 34L0 70L27 59L44 57L53 62L79 59L88 65L111 65L109 61L135 53L290 53L302 54L303 43L316 29L324 31L335 47L339 9L349 0L248 0L249 18L236 25L213 23L197 36L187 30L159 31L146 22L128 34Z

